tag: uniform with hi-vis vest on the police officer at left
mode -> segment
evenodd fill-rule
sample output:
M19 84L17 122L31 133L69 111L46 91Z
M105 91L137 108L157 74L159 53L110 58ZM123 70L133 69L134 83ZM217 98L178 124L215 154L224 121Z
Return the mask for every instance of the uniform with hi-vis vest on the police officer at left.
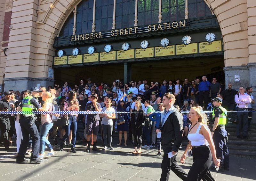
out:
M36 118L36 115L32 111L36 111L41 108L41 105L38 102L38 99L33 96L27 96L22 100L20 105L22 107L22 114L20 116L20 127L23 139L20 144L20 150L17 156L17 161L23 161L24 155L27 151L27 146L29 143L29 135L32 138L32 154L30 157L30 162L36 160L39 154L39 132L35 123L29 124L30 121ZM16 162L17 162L16 161Z

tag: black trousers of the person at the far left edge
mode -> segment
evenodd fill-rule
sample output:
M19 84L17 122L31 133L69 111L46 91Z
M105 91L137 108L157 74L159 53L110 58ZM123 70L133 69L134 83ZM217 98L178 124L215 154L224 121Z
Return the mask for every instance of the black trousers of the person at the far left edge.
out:
M8 132L11 128L9 118L0 118L1 137L0 140L4 142L4 147L9 147Z

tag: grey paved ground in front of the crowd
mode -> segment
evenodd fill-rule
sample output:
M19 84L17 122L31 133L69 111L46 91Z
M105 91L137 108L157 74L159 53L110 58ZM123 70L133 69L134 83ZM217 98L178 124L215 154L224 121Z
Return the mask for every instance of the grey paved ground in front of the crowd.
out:
M117 138L113 140L116 147ZM99 147L102 148L102 147ZM77 153L70 153L70 148L64 152L54 148L55 156L44 159L41 164L16 164L14 155L15 147L10 147L5 152L0 147L0 180L8 181L74 181L74 180L97 180L97 181L152 181L159 180L161 175L162 157L156 157L156 149L143 150L141 155L132 154L132 145L116 147L115 150L102 150L100 153L85 152L83 143L77 144ZM46 151L47 153L47 151ZM180 158L180 151L177 158ZM181 164L183 169L189 171L192 160L189 158L187 164ZM255 180L256 161L230 157L230 171L212 172L215 180L225 181L249 181ZM173 172L170 179L180 180Z

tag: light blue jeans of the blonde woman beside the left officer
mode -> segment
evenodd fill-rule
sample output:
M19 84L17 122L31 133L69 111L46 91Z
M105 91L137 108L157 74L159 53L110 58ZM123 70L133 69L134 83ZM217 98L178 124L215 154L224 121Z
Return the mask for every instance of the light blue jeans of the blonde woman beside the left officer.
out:
M46 136L47 134L49 133L50 129L52 128L53 126L53 121L51 123L49 122L45 122L41 129L40 129L40 133L39 133L39 136L40 136L40 146L39 146L39 150L40 150L40 153L43 154L44 153L44 150L45 150L45 145L47 146L47 148L50 150L52 150L52 146L51 146L51 143L50 141L48 141L46 139Z

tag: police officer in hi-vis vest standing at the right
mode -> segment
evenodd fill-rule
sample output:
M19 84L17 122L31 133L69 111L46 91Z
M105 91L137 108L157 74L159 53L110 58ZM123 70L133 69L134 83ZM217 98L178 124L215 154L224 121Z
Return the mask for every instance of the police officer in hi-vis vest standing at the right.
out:
M216 149L217 158L222 159L222 169L229 170L229 155L226 139L228 137L225 124L227 122L227 110L221 106L222 99L214 98L213 105L215 108L212 111L214 124L212 127L213 142Z

